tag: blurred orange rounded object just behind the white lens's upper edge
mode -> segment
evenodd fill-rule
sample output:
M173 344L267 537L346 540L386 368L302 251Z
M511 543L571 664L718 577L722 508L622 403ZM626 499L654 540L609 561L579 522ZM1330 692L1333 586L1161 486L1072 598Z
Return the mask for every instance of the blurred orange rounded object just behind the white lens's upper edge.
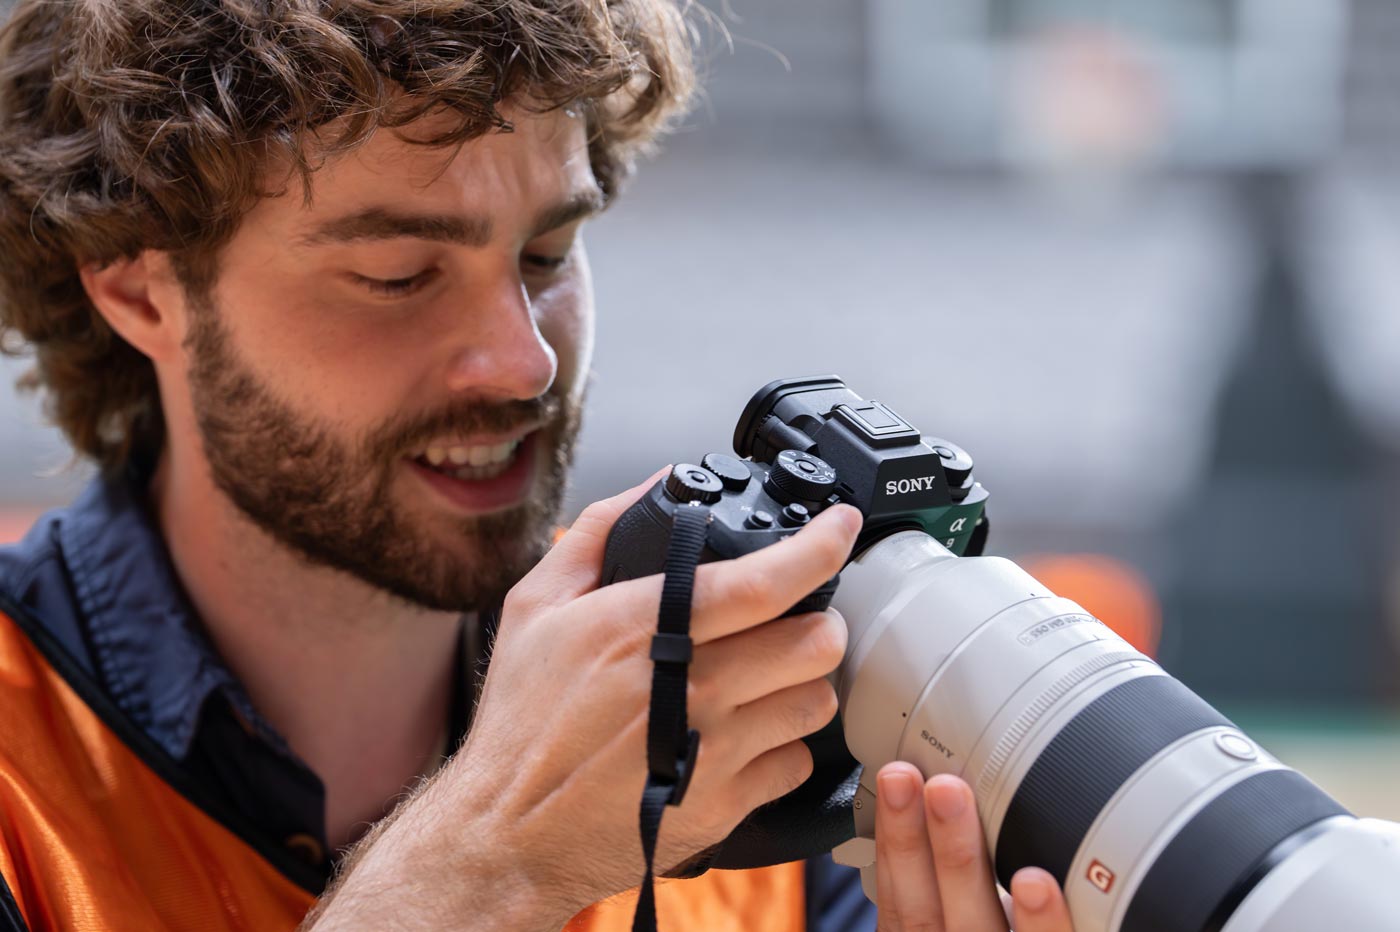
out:
M1096 553L1040 554L1018 563L1056 595L1082 605L1134 648L1156 655L1162 606L1152 584L1134 567Z

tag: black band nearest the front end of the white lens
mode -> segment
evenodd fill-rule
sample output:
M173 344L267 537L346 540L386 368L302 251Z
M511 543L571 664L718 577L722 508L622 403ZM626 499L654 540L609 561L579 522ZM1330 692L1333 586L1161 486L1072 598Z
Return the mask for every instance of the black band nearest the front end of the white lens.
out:
M1218 932L1291 835L1347 810L1292 770L1243 779L1176 833L1133 896L1121 932ZM1228 904L1229 910L1221 910Z

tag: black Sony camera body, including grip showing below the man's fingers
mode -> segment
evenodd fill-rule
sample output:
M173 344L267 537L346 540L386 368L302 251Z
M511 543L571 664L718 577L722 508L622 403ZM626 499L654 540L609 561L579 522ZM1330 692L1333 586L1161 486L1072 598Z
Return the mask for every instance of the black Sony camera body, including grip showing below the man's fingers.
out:
M706 508L700 563L732 560L797 533L822 509L854 505L864 525L853 556L900 530L921 530L959 556L981 553L987 491L959 446L925 438L879 402L834 376L778 379L759 389L739 417L734 451L679 463L613 526L603 584L665 570L680 508ZM743 459L741 459L743 458ZM830 603L839 577L784 614ZM753 868L813 856L854 835L851 800L860 765L839 722L806 739L812 777L752 813L703 868Z

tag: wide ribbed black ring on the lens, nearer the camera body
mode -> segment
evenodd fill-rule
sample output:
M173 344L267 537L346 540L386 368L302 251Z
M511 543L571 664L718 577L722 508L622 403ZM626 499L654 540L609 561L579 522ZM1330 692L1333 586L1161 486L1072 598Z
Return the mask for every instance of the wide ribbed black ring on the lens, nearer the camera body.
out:
M1119 786L1172 742L1231 725L1169 676L1116 686L1079 711L1030 765L997 835L997 879L1044 868L1064 884L1089 826Z

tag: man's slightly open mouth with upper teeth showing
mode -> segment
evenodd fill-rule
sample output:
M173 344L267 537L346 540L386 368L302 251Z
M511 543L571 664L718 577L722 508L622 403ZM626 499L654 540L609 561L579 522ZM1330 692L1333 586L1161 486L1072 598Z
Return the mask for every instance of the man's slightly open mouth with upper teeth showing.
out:
M529 491L539 434L431 444L407 462L410 472L454 509L498 511L518 504Z

